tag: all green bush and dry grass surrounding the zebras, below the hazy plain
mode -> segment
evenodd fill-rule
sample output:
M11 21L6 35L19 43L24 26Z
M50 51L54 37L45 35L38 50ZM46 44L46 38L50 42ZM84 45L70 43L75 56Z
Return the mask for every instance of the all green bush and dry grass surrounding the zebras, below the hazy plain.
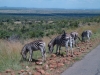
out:
M97 41L100 40L98 39L98 37L100 37L99 15L81 16L79 14L76 17L61 15L0 15L0 72L11 69L15 70L17 75L18 70L26 70L27 67L30 67L31 71L35 70L37 65L35 65L34 62L20 62L20 51L24 44L30 41L43 39L46 44L48 44L51 38L61 34L62 30L65 30L68 33L71 31L77 31L81 34L83 30L87 29L93 31L92 41L96 39L95 42L97 44ZM48 48L46 48L46 50L48 52ZM47 56L49 55L47 54ZM33 58L41 58L40 52L34 52ZM78 59L79 58L77 57L74 58L74 60ZM44 65L45 64L42 64L42 66ZM50 73L50 70L48 70L48 72Z

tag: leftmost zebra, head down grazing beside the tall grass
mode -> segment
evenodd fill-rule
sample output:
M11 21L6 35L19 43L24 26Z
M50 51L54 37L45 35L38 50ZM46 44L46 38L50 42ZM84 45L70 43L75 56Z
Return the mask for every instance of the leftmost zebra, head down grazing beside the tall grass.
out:
M42 61L46 60L46 51L45 51L45 42L42 40L36 40L26 44L21 51L21 55L23 59L26 59L26 55L29 52L29 61L32 61L33 51L40 50L42 54Z

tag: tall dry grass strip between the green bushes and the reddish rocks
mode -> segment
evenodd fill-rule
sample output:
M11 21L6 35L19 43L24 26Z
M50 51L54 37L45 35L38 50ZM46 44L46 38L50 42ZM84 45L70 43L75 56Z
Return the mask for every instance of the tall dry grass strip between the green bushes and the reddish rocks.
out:
M70 33L71 31L77 31L79 34L82 33L83 30L87 30L90 29L93 31L93 36L92 39L96 39L96 38L100 38L100 24L95 24L95 25L85 25L85 26L81 26L77 29L69 29L66 30L67 33ZM51 38L56 37L57 35L53 35L49 37L44 37L42 38L45 42L46 45L48 44L48 42L51 40ZM25 66L29 66L30 63L27 61L24 62L20 62L21 60L21 49L22 47L28 43L31 42L35 39L28 39L28 40L24 40L22 41L17 41L17 42L9 42L7 40L0 40L0 72L4 72L7 69L11 69L11 70L21 70L21 69L25 69ZM65 48L63 48L65 49ZM48 48L46 46L46 51L48 52ZM49 54L47 54L49 56ZM47 56L47 57L48 57ZM34 59L40 59L41 58L41 54L40 51L34 52L33 54L33 58ZM78 60L78 58L76 58L75 60ZM24 65L24 67L23 67ZM35 66L35 64L34 64ZM31 68L34 68L34 66L30 66Z

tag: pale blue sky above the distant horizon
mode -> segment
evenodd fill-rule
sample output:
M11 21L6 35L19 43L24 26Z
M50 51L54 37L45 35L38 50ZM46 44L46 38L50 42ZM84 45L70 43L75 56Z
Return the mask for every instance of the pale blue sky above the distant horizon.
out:
M100 0L0 0L0 7L100 9Z

